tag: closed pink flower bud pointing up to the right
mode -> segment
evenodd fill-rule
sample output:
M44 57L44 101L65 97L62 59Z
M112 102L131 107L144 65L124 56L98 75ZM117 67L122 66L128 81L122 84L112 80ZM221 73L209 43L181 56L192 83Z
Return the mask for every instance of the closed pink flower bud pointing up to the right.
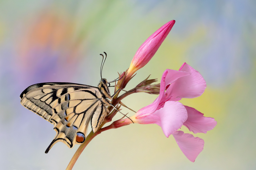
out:
M172 29L174 23L175 20L172 20L164 24L140 46L132 59L131 65L127 71L127 77L131 77L138 69L145 66L148 61L151 60Z

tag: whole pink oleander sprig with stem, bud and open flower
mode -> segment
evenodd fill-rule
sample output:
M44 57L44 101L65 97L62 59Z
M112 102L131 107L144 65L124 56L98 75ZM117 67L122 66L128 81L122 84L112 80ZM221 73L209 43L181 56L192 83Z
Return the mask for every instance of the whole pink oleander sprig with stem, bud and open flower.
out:
M204 114L198 110L184 106L179 102L182 98L195 98L204 93L206 82L202 75L184 63L179 70L166 69L162 75L160 84L152 84L156 79L145 79L139 83L135 88L126 91L126 93L119 95L119 89L125 88L126 84L134 77L134 73L147 64L154 56L157 49L160 47L175 21L169 21L155 33L153 33L137 50L132 59L129 69L119 75L120 80L115 85L115 96L112 98L112 105L117 106L116 110L112 106L108 107L108 114L98 131L94 134L91 132L86 141L79 147L67 169L72 168L74 162L81 154L82 150L87 144L101 132L119 128L131 123L139 124L157 124L162 127L166 137L173 135L178 146L185 154L185 156L192 162L195 161L198 154L203 150L204 140L194 137L192 134L184 133L179 130L183 125L193 133L206 133L213 129L217 122L214 118L205 117ZM118 112L121 106L126 107L121 100L133 93L144 92L148 94L159 94L155 101L148 106L143 107L137 111L133 116L114 121L109 126L102 128L106 122L112 121L113 116Z

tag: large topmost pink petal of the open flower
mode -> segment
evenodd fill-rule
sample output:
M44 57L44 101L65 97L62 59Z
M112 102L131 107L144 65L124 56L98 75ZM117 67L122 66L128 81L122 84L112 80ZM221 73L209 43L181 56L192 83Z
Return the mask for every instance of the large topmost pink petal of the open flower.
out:
M201 96L206 88L206 82L202 75L184 63L179 71L191 73L188 76L180 77L172 83L165 91L166 96L171 96L172 101L178 101L181 98L195 98Z

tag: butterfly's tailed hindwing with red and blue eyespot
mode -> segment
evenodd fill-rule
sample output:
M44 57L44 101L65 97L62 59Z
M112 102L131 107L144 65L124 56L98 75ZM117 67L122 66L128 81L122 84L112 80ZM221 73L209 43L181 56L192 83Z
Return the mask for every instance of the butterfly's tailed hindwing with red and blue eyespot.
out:
M64 102L60 102L52 108L55 112L52 121L55 122L54 130L57 134L48 149L58 141L62 141L69 148L84 142L92 115L95 114L97 108L104 108L100 96L97 96L96 92L95 89L72 91L65 94L70 96L69 101L64 100L67 98L65 95L60 97L61 101L64 100Z

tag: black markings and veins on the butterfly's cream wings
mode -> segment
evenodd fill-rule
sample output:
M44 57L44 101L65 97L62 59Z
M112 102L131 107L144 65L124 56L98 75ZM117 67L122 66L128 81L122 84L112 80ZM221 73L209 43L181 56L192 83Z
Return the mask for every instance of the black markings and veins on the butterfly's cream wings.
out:
M47 86L45 86L45 85L47 85ZM66 85L66 86L65 86ZM103 104L101 103L101 102L99 102L100 101L100 99L101 98L99 98L98 96L97 96L97 90L100 92L100 89L98 88L98 87L94 87L94 86L88 86L88 85L82 85L82 84L75 84L75 83L39 83L39 84L35 84L35 85L31 85L31 86L29 86L27 89L25 89L23 92L22 92L22 94L20 95L20 97L21 97L21 99L29 92L29 91L31 91L31 90L34 90L34 89L37 89L37 88L40 88L40 87L42 87L42 89L41 89L41 94L45 94L45 95L42 95L42 97L41 96L38 96L38 97L40 97L39 99L34 99L34 97L32 96L32 97L29 97L29 98L26 98L28 101L30 101L32 104L34 104L34 107L33 108L29 108L30 106L30 104L28 104L27 106L25 106L26 104L27 104L27 102L26 103L24 103L23 105L26 107L26 108L28 108L29 110L32 110L33 112L35 112L35 113L37 113L38 115L40 115L41 117L43 117L40 113L38 113L38 112L36 112L36 110L34 109L35 108L35 106L38 108L38 107L40 107L42 104L44 104L44 106L45 105L47 105L49 108L51 108L52 110L51 110L51 114L49 114L48 112L47 112L47 115L50 115L51 117L50 117L50 120L48 120L49 122L51 122L52 124L54 124L54 123L56 123L56 125L55 125L55 127L54 127L54 129L56 130L56 132L57 132L57 134L56 134L56 137L55 137L55 139L50 143L50 145L48 146L48 148L46 149L46 151L45 151L45 153L47 153L48 151L49 151L49 149L52 147L52 145L56 142L56 141L62 141L62 142L64 142L66 145L69 145L69 147L70 148L72 148L73 147L73 145L74 144L76 144L76 142L77 143L83 143L84 142L84 140L85 140L85 135L84 135L84 133L83 132L78 132L78 128L81 126L81 123L83 122L83 120L84 120L84 117L85 117L85 115L86 115L86 112L89 110L89 109L91 109L93 106L95 106L95 104L98 102L98 104L95 106L95 108L92 110L92 111L90 111L90 113L94 113L94 111L98 108L98 107L101 107L101 112L100 112L100 117L101 117L101 115L102 115L102 113L103 113ZM73 88L73 91L70 91L70 92L68 92L68 88ZM86 89L89 89L89 88L91 88L91 89L94 89L95 90L95 92L93 93L92 91L90 91L90 90L86 90ZM44 89L51 89L50 90L50 92L48 92L48 93L45 93L45 91L43 91ZM59 89L62 89L62 91L60 92L60 97L58 97L57 96L57 91L59 90ZM81 100L78 104L76 104L76 106L73 106L73 116L71 116L71 118L69 119L69 121L74 117L74 116L76 116L71 122L69 122L68 120L66 120L66 116L67 116L67 113L66 113L66 110L69 108L69 101L71 101L70 100L70 93L71 92L74 92L74 91L76 91L76 90L78 90L78 89L80 89L80 91L84 91L84 92L86 92L86 93L90 93L94 98L92 98L92 99L74 99L74 100ZM96 90L97 89L97 90ZM31 92L31 93L33 93L33 92ZM38 95L40 95L40 94L38 94ZM48 96L48 98L46 98L46 99L43 99L44 101L42 101L42 100L40 100L40 99L42 99L43 97L45 97L46 95L50 95L50 96ZM61 103L61 97L63 97L63 95L65 95L65 101L63 101L62 100L62 103ZM50 99L52 97L52 99L50 100L50 101L48 101L47 103L46 103L46 101L48 100L48 99ZM103 96L102 96L103 97ZM58 100L57 100L58 99ZM94 102L94 103L91 103L90 104L90 106L86 109L86 110L84 110L83 112L81 112L81 113L75 113L75 108L83 101L83 100L95 100L96 99L96 101ZM37 101L39 101L38 103L37 103ZM50 104L53 102L53 101L56 101L56 103L58 103L57 105L54 105L53 107L51 107L50 106ZM35 103L37 103L37 105L39 105L39 106L37 106ZM49 103L49 104L48 104ZM59 110L58 109L58 111L55 109L55 107L56 106L58 106L59 104L66 104L66 106L64 106L64 105L61 105L61 110ZM47 108L45 108L45 107L42 107L42 108L40 108L40 109L42 109L42 110L44 110L44 111L47 111ZM61 121L56 121L56 120L54 120L54 119L52 119L53 118L53 112L54 111L54 113L55 113L55 115L54 116L56 116L56 114L58 115L58 117L61 119ZM44 113L45 114L45 113ZM71 114L71 113L69 113L69 114ZM68 115L69 115L68 114ZM77 123L80 123L79 124L79 127L77 127L77 126L75 126L74 125L74 123L76 122L76 120L78 119L78 116L80 115L80 114L83 114L83 117L82 117L82 119L81 120L79 120ZM89 117L89 119L88 119L88 116L87 116L87 120L86 120L86 122L88 122L88 120L91 120L92 119L92 115L93 114L91 114L90 115L90 117ZM81 116L80 116L81 117ZM45 117L43 117L44 119L46 119ZM47 119L46 119L47 120ZM98 122L97 122L97 126L98 126L98 123L99 123L99 120L100 120L100 118L98 119ZM61 123L63 126L61 126L60 128L61 129L59 129L58 127L56 127L57 126L57 124L58 123ZM76 124L77 124L76 123ZM71 125L70 125L71 124ZM87 123L87 125L88 125L88 123ZM58 137L58 135L59 135L59 133L61 133L61 132L63 132L63 134L65 134L65 137L63 138L63 137ZM76 137L75 137L75 135L77 135ZM66 138L66 139L65 139ZM74 140L76 139L76 141L74 142ZM69 140L69 141L67 141L67 140Z

